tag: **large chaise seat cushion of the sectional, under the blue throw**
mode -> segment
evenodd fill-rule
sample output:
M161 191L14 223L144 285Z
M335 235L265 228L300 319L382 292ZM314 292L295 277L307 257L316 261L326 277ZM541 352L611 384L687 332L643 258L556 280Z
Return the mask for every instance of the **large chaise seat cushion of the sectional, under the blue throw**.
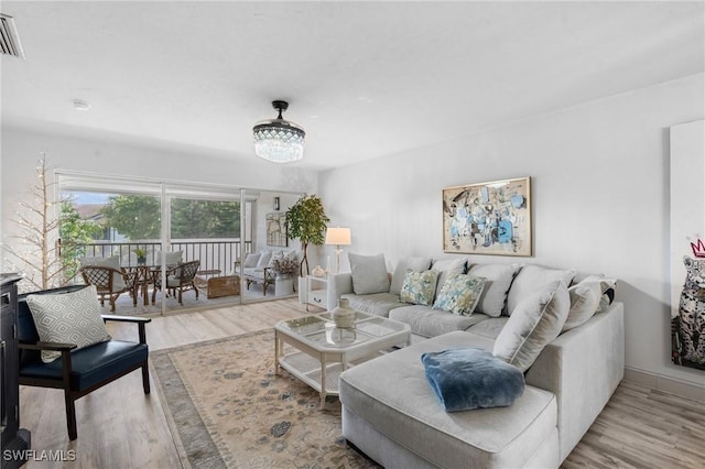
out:
M340 402L382 435L413 448L427 466L468 467L471 461L478 468L525 467L536 448L555 438L553 393L527 386L510 407L446 413L424 378L422 353L451 347L487 349L479 342L456 331L352 367L340 374ZM557 452L557 443L553 445Z

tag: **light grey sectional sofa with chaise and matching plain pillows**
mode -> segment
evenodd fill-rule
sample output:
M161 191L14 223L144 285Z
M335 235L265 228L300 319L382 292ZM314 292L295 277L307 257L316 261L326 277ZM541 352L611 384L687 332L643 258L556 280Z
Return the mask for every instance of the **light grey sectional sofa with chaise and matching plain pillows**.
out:
M557 468L623 378L623 305L612 302L614 281L575 283L575 271L531 264L414 258L400 261L384 292L379 269L356 272L355 264L352 273L329 277L328 297L412 329L410 347L340 377L345 438L387 468ZM434 268L441 274L433 304L401 301L397 288L409 286L408 271ZM434 309L442 282L468 273L487 279L475 310ZM514 364L524 373L523 393L509 406L446 412L421 356L459 347Z

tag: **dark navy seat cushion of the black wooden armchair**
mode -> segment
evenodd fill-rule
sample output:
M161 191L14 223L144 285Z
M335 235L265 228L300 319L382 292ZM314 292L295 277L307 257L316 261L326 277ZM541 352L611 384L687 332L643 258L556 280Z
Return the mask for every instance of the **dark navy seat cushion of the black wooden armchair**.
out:
M110 340L74 350L70 353L70 388L73 391L83 391L113 378L120 370L138 368L148 356L147 345L122 340ZM20 377L61 380L62 360L25 364L20 368Z

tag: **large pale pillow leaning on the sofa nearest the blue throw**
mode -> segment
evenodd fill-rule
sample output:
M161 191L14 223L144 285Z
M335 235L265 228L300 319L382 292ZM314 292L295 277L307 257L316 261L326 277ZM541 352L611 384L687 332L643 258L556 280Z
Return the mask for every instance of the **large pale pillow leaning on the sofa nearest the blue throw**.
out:
M522 372L558 337L571 308L568 288L555 281L524 298L497 336L492 353Z

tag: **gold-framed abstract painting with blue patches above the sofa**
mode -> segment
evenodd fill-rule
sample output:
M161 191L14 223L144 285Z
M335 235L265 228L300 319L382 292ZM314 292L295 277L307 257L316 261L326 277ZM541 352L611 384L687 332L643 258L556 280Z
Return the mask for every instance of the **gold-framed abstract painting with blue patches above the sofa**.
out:
M532 255L531 177L444 188L443 251Z

